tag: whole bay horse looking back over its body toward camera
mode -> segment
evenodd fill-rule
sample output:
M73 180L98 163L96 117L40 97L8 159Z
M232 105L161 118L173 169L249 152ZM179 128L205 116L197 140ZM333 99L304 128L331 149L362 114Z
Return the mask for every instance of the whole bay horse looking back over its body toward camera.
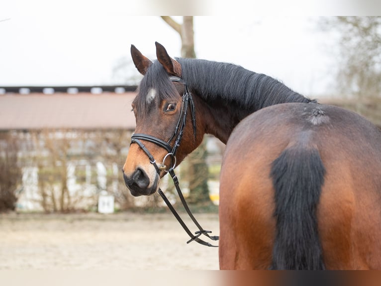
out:
M159 43L156 54L152 62L131 46L144 75L123 166L132 195L155 193L165 165L179 164L212 134L226 143L220 269L381 270L374 125L234 64L174 59Z

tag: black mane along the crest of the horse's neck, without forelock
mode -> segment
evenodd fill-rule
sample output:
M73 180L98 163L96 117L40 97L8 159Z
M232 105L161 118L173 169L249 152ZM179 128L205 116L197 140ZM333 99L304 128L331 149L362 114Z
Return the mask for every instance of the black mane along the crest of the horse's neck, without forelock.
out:
M179 58L185 82L205 101L223 99L252 112L286 102L310 102L280 81L230 63Z

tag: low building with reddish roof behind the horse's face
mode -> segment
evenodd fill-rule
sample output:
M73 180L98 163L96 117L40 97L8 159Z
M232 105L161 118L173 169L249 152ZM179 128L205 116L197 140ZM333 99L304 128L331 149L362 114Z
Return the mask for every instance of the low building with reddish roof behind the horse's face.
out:
M89 209L100 191L122 197L135 89L0 87L0 141L16 139L22 168L19 209Z

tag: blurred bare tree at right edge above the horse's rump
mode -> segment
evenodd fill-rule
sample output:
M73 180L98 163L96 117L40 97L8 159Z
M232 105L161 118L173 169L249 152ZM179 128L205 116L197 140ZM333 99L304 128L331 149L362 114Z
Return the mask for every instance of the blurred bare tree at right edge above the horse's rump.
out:
M381 17L324 18L323 29L339 32L337 85L342 105L381 125Z

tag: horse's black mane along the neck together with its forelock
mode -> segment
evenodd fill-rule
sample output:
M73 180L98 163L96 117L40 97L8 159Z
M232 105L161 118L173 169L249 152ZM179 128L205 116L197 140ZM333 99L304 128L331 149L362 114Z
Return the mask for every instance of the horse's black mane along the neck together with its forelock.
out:
M279 103L311 102L280 81L241 66L200 59L177 60L182 66L183 79L191 92L206 102L234 103L249 113ZM167 72L158 61L152 63L138 87L137 106L141 112L148 112L152 106L146 100L151 88L158 94L154 99L156 103L177 94L175 87L170 84Z

